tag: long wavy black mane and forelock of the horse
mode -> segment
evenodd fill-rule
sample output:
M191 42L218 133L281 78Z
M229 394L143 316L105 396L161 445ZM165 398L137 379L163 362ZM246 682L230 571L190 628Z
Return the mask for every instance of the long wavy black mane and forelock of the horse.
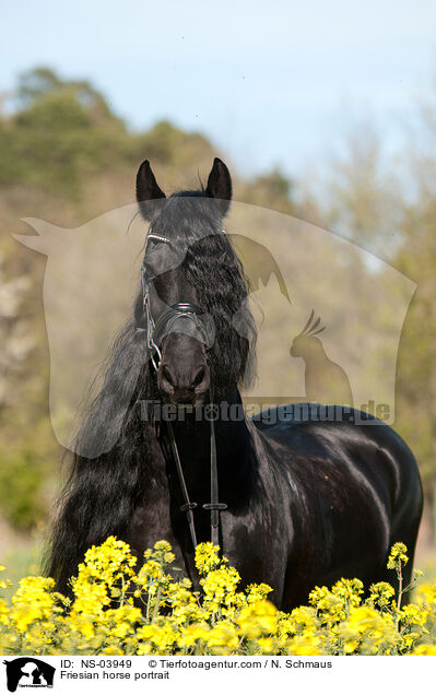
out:
M202 191L175 193L151 223L151 231L170 235L186 251L184 272L215 322L209 365L217 396L235 384L250 384L257 338L248 281L221 227L219 208ZM138 405L158 398L145 332L138 330L143 322L138 292L132 317L106 361L101 392L84 414L60 496L46 563L58 590L68 591L68 579L91 545L110 534L129 542L129 528L151 476L164 469L154 424L141 417Z

